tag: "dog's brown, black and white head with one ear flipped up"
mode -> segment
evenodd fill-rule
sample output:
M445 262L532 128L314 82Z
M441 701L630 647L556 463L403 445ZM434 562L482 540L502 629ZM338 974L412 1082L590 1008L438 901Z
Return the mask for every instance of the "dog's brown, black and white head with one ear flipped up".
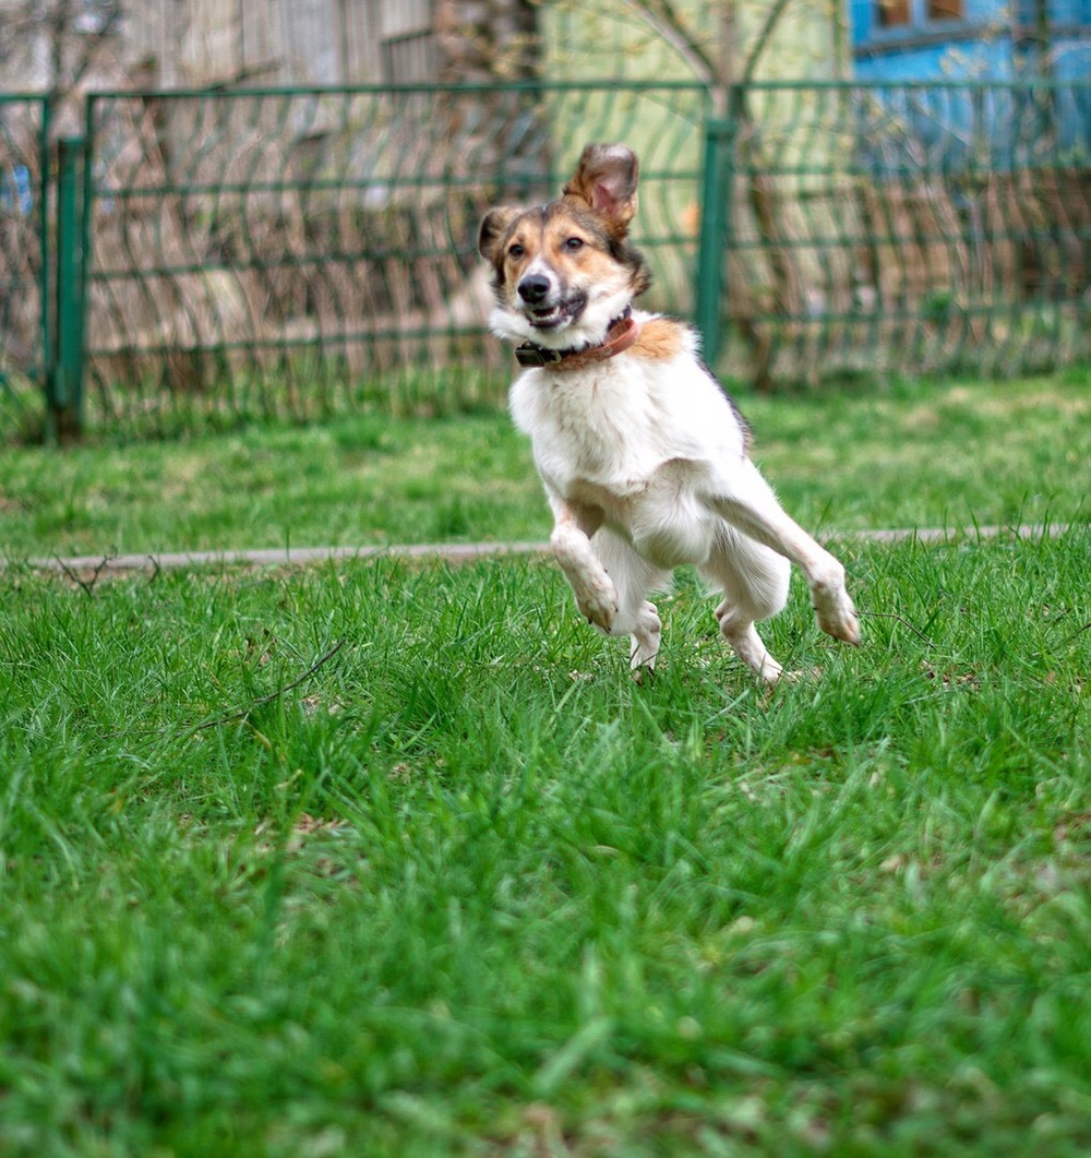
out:
M627 241L639 171L625 145L588 145L556 200L486 214L478 249L493 267L497 336L552 350L597 345L648 288Z

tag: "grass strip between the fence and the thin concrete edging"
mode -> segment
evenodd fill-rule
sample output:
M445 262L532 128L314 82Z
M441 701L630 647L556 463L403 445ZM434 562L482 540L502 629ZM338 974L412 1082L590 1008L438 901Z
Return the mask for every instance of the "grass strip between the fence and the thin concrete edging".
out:
M755 456L805 526L1086 519L1086 374L742 401ZM502 413L363 415L0 455L0 544L10 558L547 530L525 440Z

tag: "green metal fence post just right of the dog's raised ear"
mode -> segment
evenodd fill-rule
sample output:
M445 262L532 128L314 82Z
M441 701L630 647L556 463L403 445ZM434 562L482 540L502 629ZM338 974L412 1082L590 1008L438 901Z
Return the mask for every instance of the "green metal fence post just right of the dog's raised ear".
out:
M727 263L725 232L730 220L730 198L735 151L735 122L710 119L705 126L705 176L701 186L701 229L698 239L694 322L701 335L701 350L709 366L715 366L722 334L721 308Z

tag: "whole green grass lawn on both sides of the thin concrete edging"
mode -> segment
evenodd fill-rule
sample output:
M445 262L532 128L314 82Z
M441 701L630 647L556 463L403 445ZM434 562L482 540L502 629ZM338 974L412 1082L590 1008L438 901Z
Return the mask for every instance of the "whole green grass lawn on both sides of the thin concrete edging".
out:
M17 562L544 534L489 416L6 454L0 1155L1084 1158L1091 409L1022 386L747 403L808 525L1074 523L846 536L771 695L687 572L637 686L545 560Z

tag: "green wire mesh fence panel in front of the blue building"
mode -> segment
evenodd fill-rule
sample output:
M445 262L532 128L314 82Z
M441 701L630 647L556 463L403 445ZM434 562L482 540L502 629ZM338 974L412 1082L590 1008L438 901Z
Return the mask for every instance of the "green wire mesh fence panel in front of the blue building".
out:
M1091 83L765 85L732 111L721 300L737 373L1091 358Z

